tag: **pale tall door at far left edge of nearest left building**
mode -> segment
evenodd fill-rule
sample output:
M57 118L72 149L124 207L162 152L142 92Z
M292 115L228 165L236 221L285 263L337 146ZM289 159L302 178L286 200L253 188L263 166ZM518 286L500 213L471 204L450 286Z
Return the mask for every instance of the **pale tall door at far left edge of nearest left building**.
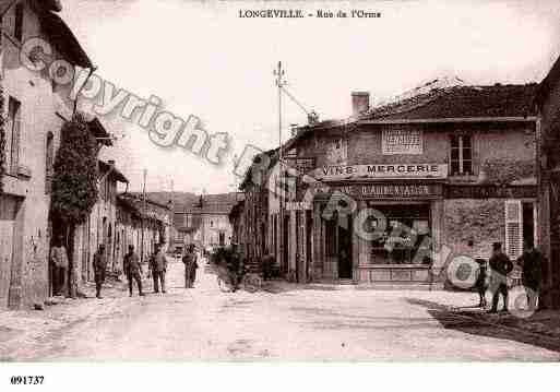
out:
M8 306L10 273L12 270L15 213L17 202L3 197L0 203L0 308Z

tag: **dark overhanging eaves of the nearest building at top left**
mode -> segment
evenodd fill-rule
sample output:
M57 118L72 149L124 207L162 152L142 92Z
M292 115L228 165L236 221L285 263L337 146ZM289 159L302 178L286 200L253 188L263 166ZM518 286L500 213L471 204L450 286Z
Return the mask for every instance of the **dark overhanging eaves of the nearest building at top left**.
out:
M50 9L55 10L55 2L49 1L49 3L51 3ZM52 45L72 64L93 69L92 60L90 60L70 27L59 15L48 11L48 9L39 9L38 13L40 26L52 41Z

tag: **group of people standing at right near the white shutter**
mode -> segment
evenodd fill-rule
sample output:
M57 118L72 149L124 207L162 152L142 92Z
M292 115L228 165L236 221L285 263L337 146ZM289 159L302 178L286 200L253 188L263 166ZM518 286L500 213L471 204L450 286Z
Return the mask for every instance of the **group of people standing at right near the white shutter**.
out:
M509 284L508 275L513 271L514 263L502 251L501 242L492 243L492 256L488 260L490 274L486 262L482 259L476 259L480 265L476 287L480 298L479 306L486 307L486 292L489 289L492 294L492 306L490 313L498 312L500 296L503 298L503 311L508 312ZM543 282L544 257L531 241L524 242L523 254L516 260L517 265L522 268L522 284L527 295L527 305L529 310L536 310L538 294Z

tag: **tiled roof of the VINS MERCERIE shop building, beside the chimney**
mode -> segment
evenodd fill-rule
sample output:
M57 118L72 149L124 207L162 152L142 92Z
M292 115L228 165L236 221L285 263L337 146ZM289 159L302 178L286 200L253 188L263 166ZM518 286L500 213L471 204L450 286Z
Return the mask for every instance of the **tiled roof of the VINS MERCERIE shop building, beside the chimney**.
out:
M374 107L360 120L527 117L536 115L533 102L538 85L495 84L433 88L394 104Z

